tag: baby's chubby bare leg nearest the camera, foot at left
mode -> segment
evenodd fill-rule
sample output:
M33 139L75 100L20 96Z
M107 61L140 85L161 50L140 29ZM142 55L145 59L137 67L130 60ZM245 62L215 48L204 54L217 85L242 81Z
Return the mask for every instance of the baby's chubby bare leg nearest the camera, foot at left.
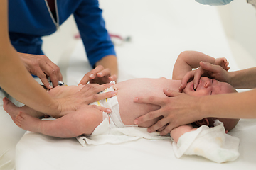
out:
M16 115L16 124L24 130L63 138L89 135L101 122L102 111L90 106L55 120L40 120L23 112Z

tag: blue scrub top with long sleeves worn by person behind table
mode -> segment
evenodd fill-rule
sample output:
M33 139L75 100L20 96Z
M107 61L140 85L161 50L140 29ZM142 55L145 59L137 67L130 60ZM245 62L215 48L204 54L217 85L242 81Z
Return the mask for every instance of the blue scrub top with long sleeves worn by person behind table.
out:
M56 7L59 25L74 14L92 67L102 57L116 55L97 0L58 0ZM18 52L42 55L41 37L56 30L44 0L9 0L9 35Z

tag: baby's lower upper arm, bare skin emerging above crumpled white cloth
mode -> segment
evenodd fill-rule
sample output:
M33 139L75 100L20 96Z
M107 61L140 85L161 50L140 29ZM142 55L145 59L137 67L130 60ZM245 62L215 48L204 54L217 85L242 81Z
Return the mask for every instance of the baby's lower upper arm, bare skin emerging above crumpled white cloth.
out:
M175 142L178 142L179 137L181 137L184 133L191 132L193 130L196 130L196 128L193 128L191 124L181 125L171 130L170 135Z

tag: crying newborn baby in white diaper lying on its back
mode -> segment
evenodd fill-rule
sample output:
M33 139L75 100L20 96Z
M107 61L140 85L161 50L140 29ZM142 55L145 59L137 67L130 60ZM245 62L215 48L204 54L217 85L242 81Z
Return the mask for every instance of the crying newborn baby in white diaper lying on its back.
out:
M173 79L130 79L122 81L117 84L113 84L110 91L117 91L117 95L112 98L107 98L102 101L98 101L93 104L98 106L112 109L112 113L102 113L102 111L85 106L78 111L64 115L61 118L55 120L41 120L34 118L30 113L33 112L31 108L23 106L17 108L7 98L4 98L4 109L6 110L14 123L24 130L32 132L39 132L44 135L50 135L54 137L77 137L85 134L90 135L95 128L102 123L102 120L107 118L110 123L110 128L114 127L126 127L128 125L134 125L135 118L141 115L149 113L159 109L159 106L151 105L148 103L134 103L136 96L158 96L167 97L164 94L163 89L171 89L173 91L179 91L181 86L181 79L186 72L199 66L199 62L210 62L212 64L218 64L224 69L228 70L228 62L225 58L214 59L208 55L204 55L201 52L182 52L176 60L174 65ZM73 94L76 91L82 89L83 86L57 86L48 91L48 94L53 97L59 97L63 95ZM201 77L200 82L196 89L193 88L193 81L186 85L183 92L193 96L213 95L213 94L225 94L236 92L233 86L225 82L220 82L208 77ZM150 127L154 125L157 120L150 120L146 123L142 123L139 127ZM204 118L198 120L196 125L208 125L213 126L213 123L217 118ZM224 123L225 130L232 130L238 123L237 119L225 119L218 118ZM174 141L178 141L178 137L183 135L184 132L194 130L191 125L183 125L172 130L171 136ZM159 129L161 131L161 129Z

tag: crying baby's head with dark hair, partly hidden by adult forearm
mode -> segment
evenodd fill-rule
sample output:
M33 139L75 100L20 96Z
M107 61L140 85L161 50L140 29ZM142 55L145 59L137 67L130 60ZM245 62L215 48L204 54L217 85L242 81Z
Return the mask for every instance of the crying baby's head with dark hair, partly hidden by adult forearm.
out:
M183 90L185 94L191 96L206 96L214 94L228 94L237 92L233 86L228 83L220 82L215 79L209 79L208 77L201 77L199 84L196 89L193 88L193 81L189 82L186 85L186 88ZM223 122L225 130L232 130L235 125L238 124L239 119L230 119L230 118L206 118L196 122L197 125L208 125L213 126L214 121L218 119L220 122Z

